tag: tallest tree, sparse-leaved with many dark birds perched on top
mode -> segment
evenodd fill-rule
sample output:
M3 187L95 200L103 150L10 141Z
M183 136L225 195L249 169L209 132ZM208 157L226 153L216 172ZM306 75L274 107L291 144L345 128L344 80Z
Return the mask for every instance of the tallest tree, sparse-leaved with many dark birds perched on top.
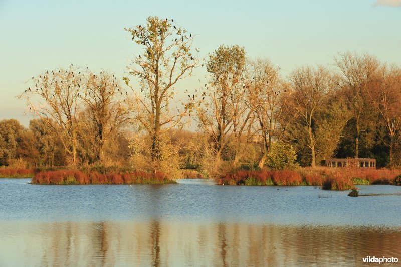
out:
M192 51L192 34L178 27L173 20L149 17L146 25L126 29L132 40L143 47L144 53L135 56L129 74L139 79L139 89L130 85L137 105L136 119L152 137L152 158L160 155L160 134L181 123L191 108L194 97L189 97L182 109L170 112L170 101L174 101L174 86L178 81L191 76L198 66ZM198 51L195 49L196 52ZM129 78L124 77L127 85Z

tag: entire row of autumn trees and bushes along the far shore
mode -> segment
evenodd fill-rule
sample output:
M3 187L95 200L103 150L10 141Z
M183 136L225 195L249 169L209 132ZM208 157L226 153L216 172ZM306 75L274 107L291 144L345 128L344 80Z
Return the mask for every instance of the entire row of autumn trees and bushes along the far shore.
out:
M345 52L328 66L284 75L238 45L200 58L194 36L171 19L149 17L126 30L142 52L122 80L73 64L30 78L19 97L36 119L29 129L0 122L0 164L114 162L171 174L192 166L206 175L244 165L317 166L331 157L401 164L399 66ZM207 76L182 98L175 87L196 68ZM189 121L196 132L183 130Z

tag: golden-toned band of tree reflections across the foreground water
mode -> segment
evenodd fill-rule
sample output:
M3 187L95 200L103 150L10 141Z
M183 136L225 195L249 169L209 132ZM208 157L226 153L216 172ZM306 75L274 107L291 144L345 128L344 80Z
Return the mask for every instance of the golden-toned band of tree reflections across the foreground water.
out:
M363 265L399 257L393 228L245 223L0 223L1 266Z

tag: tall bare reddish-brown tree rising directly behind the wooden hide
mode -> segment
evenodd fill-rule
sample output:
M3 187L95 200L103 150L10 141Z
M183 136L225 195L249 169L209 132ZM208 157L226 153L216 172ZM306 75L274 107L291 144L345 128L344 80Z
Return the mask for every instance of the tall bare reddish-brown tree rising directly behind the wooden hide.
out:
M355 158L359 157L359 140L363 115L369 108L367 89L379 66L378 61L368 55L357 55L350 52L339 53L334 58L342 74L339 85L347 99L348 108L355 119Z

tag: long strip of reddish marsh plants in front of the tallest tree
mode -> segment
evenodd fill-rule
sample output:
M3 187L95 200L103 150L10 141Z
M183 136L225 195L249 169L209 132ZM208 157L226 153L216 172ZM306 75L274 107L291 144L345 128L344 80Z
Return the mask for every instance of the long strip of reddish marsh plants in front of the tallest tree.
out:
M34 175L33 184L167 184L175 183L163 173L126 172L101 174L76 170L42 171Z

